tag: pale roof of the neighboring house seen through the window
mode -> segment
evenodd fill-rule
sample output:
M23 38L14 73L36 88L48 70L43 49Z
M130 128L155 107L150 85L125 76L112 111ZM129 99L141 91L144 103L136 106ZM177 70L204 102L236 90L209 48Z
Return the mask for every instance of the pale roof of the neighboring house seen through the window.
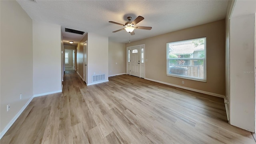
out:
M194 44L182 44L182 45L169 45L170 53L169 54L193 54L195 51L202 51L204 50L204 45L200 45L194 47Z

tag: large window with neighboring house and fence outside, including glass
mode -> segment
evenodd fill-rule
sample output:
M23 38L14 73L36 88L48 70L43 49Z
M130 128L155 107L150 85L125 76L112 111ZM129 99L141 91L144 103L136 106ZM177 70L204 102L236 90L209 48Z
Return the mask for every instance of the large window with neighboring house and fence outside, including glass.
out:
M167 76L206 82L206 38L168 42Z

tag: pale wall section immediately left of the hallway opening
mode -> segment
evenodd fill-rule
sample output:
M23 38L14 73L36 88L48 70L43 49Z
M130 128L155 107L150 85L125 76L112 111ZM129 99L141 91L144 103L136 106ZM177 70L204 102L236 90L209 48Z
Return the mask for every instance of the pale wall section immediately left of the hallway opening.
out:
M33 94L61 91L60 26L33 20Z

